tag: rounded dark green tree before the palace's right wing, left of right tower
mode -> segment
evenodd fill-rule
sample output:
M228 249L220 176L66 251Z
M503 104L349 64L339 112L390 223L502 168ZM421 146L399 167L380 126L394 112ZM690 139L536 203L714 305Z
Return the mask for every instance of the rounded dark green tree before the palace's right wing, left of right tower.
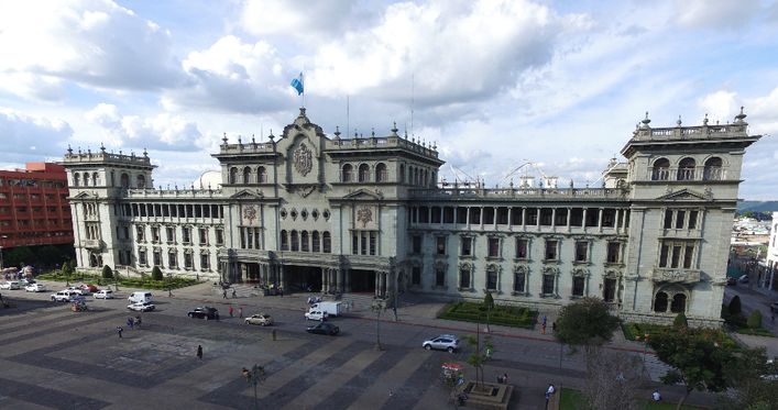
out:
M559 311L555 336L572 351L582 346L587 353L613 337L618 319L611 315L602 299L583 298Z

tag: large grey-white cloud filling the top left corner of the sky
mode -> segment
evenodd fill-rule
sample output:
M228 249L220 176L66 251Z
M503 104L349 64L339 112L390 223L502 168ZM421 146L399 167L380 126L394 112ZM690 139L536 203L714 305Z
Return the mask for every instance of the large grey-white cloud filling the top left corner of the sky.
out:
M0 2L0 55L3 76L26 79L0 87L28 98L59 97L56 79L158 89L179 70L169 33L108 0Z

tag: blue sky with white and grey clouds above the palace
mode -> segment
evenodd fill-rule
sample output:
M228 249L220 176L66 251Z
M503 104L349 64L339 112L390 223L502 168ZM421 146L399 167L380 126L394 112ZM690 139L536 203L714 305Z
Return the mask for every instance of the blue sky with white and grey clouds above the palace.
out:
M739 197L778 199L778 4L759 0L3 1L0 168L146 148L155 187L189 186L224 134L267 141L297 117L300 71L328 135L396 123L447 180L490 187L599 186L646 112L745 107L765 136Z

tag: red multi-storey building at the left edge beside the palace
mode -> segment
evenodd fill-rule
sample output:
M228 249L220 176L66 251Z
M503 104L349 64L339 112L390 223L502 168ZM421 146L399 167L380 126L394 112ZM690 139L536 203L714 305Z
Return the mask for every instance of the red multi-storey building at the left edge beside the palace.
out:
M0 247L73 243L62 165L28 163L26 169L0 170Z

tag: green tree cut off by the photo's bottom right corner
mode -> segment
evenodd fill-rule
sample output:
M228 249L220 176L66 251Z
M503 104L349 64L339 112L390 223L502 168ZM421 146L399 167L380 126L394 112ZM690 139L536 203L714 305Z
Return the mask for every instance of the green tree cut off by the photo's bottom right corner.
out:
M778 364L767 362L765 347L736 352L726 368L732 387L719 396L725 410L778 409L778 381L767 383L765 375L778 375Z

